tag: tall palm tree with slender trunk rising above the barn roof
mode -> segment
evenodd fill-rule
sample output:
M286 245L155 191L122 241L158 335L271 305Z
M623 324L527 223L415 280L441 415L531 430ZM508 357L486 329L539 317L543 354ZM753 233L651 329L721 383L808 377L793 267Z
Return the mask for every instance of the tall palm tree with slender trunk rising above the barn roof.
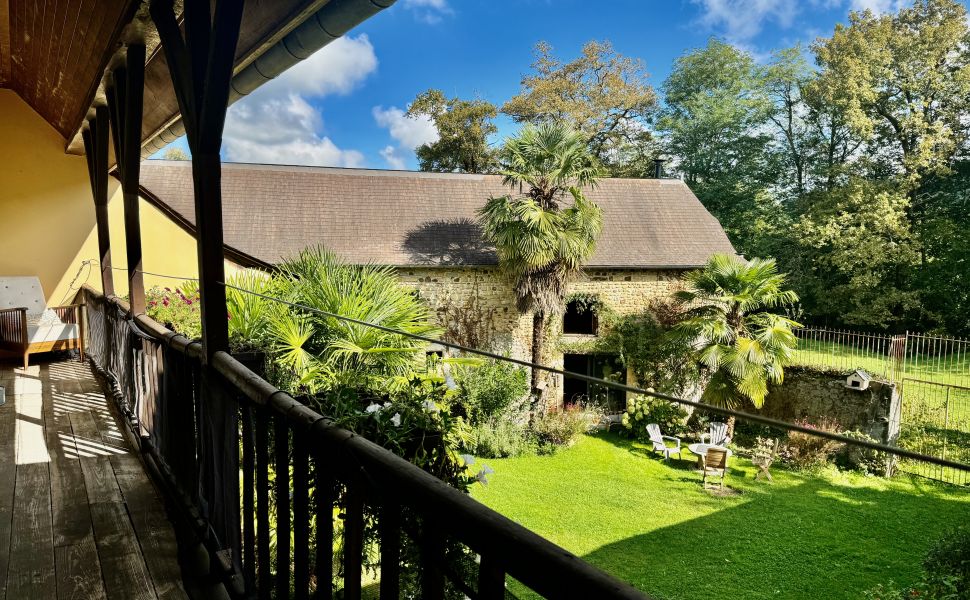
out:
M505 142L501 160L513 193L490 198L479 219L515 281L519 310L532 312L532 362L541 363L546 319L562 311L567 281L596 247L602 213L582 188L594 186L601 171L586 138L561 123L526 126ZM537 369L532 393L538 405Z

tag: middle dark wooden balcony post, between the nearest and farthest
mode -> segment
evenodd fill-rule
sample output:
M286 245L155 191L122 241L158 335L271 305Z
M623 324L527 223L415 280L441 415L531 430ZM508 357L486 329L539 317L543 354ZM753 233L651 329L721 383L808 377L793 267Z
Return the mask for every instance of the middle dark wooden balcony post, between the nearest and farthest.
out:
M141 172L142 100L145 88L145 46L131 44L126 66L111 73L107 89L121 192L125 203L125 248L128 254L128 305L132 316L145 313L142 274L141 219L138 211L138 177Z

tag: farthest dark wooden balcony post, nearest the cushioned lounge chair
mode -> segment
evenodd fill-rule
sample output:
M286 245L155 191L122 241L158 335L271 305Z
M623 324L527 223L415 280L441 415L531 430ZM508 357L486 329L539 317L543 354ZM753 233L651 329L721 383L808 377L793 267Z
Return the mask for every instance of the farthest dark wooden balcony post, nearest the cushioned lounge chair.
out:
M101 290L105 296L115 293L111 273L111 237L108 230L108 109L95 108L84 130L84 154L88 161L88 177L94 196L94 216L98 229L98 261L101 265Z

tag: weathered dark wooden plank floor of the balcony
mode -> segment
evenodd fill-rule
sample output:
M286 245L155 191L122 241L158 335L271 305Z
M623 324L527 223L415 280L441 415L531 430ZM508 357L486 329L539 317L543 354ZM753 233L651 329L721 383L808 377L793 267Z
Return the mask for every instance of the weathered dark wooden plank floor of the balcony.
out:
M87 364L0 363L0 599L186 598L165 508Z

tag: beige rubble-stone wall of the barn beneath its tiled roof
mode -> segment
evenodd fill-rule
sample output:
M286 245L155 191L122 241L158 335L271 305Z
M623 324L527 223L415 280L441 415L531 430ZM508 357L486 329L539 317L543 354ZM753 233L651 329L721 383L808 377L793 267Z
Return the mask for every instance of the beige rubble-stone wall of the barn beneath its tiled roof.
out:
M647 269L590 269L570 283L568 293L595 294L618 314L645 310L654 298L670 296L680 287L683 271ZM428 301L440 320L446 305L463 305L475 296L489 311L492 347L508 351L514 358L532 357L532 316L520 314L515 306L512 286L495 267L421 267L399 268L398 277ZM546 338L545 364L562 368L563 354L556 350L562 330L561 321L550 324ZM570 341L577 337L568 336ZM561 399L561 377L547 376L546 396L551 402Z

